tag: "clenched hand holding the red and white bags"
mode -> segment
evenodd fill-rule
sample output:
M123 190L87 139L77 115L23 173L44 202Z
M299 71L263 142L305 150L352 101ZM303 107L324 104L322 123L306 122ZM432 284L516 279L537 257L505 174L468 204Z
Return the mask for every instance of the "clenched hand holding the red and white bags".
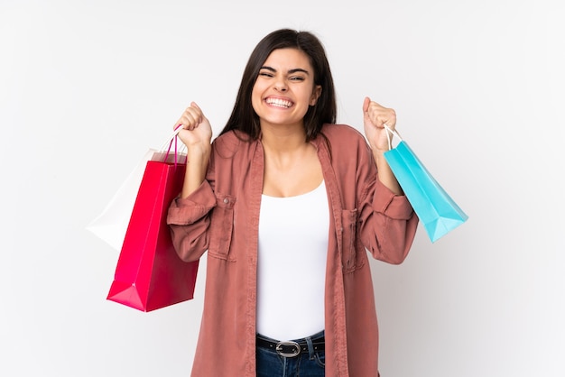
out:
M173 128L176 129L179 124L182 127L179 138L189 150L191 147L209 148L212 139L212 127L196 103L190 103L190 106L184 110Z

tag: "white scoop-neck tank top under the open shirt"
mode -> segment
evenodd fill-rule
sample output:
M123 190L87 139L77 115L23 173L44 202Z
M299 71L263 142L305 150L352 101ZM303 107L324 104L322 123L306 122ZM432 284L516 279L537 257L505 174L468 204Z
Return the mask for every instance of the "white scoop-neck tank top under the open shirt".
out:
M329 204L324 182L290 198L262 196L257 332L277 340L324 329Z

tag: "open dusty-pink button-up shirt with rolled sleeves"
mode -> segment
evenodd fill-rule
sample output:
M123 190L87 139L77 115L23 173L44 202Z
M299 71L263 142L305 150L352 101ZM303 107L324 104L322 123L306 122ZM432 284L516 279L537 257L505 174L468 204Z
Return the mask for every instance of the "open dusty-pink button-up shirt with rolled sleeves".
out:
M364 136L325 124L317 148L328 193L325 281L326 375L376 377L378 327L367 251L401 263L418 225L408 200L377 179ZM255 377L257 234L264 177L260 141L230 132L212 144L206 180L169 209L185 261L208 250L204 312L192 368L196 377ZM300 277L281 276L284 279ZM284 291L281 291L284 294ZM301 316L300 308L289 309Z

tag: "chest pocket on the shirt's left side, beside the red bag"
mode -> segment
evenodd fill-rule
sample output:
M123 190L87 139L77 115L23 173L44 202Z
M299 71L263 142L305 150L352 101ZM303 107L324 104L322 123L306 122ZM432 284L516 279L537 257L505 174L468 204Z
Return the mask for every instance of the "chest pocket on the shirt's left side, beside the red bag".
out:
M229 262L236 262L235 253L230 253L235 204L236 197L216 193L216 207L210 219L208 254Z

